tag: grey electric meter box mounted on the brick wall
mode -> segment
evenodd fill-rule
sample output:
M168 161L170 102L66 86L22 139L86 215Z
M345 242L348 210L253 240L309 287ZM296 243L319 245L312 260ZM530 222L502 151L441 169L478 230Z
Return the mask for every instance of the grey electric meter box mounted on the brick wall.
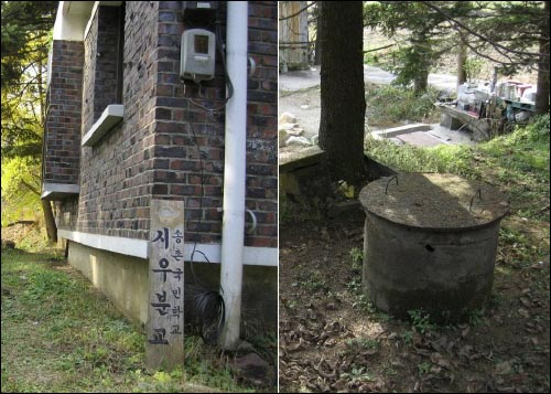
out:
M204 29L186 30L182 34L180 77L196 83L214 78L216 35Z

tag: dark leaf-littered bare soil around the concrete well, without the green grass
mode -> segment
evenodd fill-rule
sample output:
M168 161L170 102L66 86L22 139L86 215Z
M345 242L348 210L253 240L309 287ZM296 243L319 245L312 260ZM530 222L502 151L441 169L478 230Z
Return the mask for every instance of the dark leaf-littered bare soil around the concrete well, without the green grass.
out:
M361 294L363 224L353 212L280 227L281 392L549 392L549 256L519 264L500 238L484 309L406 322ZM545 224L530 231L545 242Z

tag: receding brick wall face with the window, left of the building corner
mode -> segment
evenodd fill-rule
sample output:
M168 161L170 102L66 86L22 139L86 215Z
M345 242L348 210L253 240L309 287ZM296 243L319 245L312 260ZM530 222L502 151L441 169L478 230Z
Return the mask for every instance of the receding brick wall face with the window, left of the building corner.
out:
M78 212L74 212L75 206L71 202L63 203L61 207L62 216L73 211L67 217L78 215L78 221L76 225L64 222L65 228L131 238L147 239L148 237L153 175L151 148L154 143L152 131L154 82L156 81L154 55L158 34L156 7L158 2L154 1L126 2L125 121L109 131L94 147L82 148ZM96 24L100 25L100 23ZM93 29L95 28L90 29L89 34L94 34ZM87 43L87 45L90 44ZM100 57L87 56L86 60L96 64L86 68L85 74L94 71L96 81L101 78L104 74L96 70ZM87 76L85 75L85 81ZM111 99L115 100L115 98ZM102 105L108 104L115 104L115 102L105 100ZM97 109L98 115L105 106ZM84 103L83 114L91 113L91 102ZM86 131L83 123L83 134Z

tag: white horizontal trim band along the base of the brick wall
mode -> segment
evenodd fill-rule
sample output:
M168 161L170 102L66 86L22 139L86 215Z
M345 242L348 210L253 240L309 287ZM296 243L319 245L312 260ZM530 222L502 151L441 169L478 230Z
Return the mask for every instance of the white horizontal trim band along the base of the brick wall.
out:
M96 249L102 249L122 255L148 258L148 241L133 239L120 236L100 235L82 233L68 230L57 230L57 236L69 239ZM219 264L222 260L220 244L197 244L196 251L203 252L210 263ZM191 260L193 244L184 245L184 258ZM206 263L206 259L199 253L195 253L194 263ZM245 265L258 266L278 266L278 248L276 247L255 247L245 246Z

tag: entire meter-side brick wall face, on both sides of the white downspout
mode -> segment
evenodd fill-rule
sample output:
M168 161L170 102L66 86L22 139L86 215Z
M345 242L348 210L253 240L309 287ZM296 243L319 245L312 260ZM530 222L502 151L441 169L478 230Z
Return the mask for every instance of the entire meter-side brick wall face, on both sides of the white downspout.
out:
M220 3L224 42L225 6ZM224 108L209 113L194 103L206 108L220 107L226 93L225 72L217 52L215 79L203 82L201 92L196 84L186 82L184 90L179 78L181 35L184 29L202 28L202 21L183 19L179 2L161 1L159 7L153 195L184 198L188 241L219 242L223 213L217 209L224 198L225 114ZM277 17L276 2L249 2L249 54L257 71L248 83L246 204L256 213L258 226L246 236L248 246L278 245ZM213 14L203 23L212 25L214 19Z

